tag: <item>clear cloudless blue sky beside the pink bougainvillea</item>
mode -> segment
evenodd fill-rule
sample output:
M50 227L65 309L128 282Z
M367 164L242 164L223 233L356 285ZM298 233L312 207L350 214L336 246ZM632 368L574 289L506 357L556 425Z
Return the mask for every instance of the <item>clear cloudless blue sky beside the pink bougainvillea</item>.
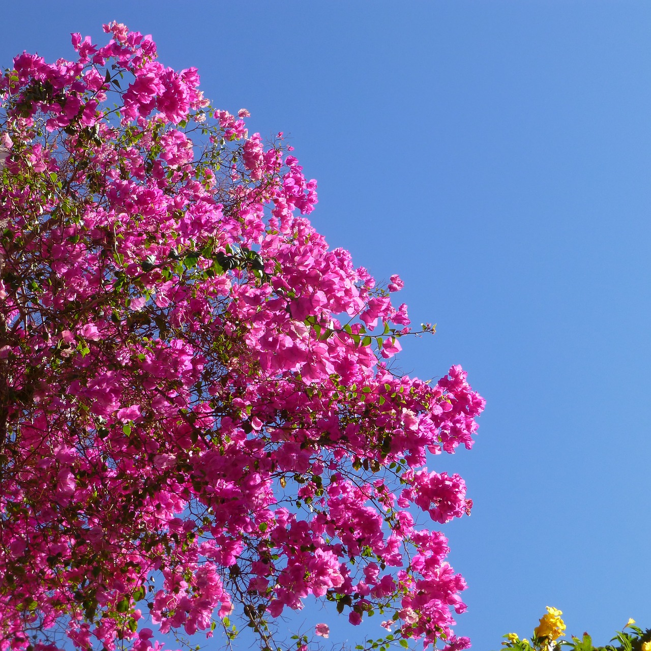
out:
M473 648L546 605L600 644L651 626L647 0L39 0L0 20L3 66L110 20L151 33L215 105L291 135L331 245L400 273L438 324L402 368L460 363L488 400L475 449L436 465L475 501L445 529Z

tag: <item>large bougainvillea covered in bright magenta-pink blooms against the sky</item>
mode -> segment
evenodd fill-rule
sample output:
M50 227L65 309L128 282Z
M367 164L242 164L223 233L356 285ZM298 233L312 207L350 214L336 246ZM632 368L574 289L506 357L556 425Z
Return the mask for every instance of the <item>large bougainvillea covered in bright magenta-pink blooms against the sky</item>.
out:
M245 624L275 650L311 596L467 648L417 516L469 512L426 456L469 449L484 400L391 371L402 281L328 249L282 134L104 28L0 79L0 649Z

